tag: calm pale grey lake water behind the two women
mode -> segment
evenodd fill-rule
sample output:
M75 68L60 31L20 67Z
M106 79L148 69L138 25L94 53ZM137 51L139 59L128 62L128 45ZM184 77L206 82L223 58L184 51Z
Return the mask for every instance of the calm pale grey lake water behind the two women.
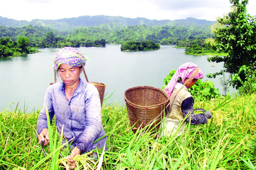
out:
M125 105L124 92L128 88L150 85L161 88L163 79L171 71L185 62L194 62L204 73L203 81L211 80L215 88L222 93L219 78L209 79L209 73L220 71L221 63L207 62L207 56L184 54L183 48L161 45L156 51L121 51L120 45L99 47L80 47L81 53L89 57L85 71L90 82L102 82L107 85L105 94L112 96L110 102ZM26 108L39 109L44 102L44 94L50 82L54 82L52 70L53 58L60 48L41 48L41 52L13 58L0 58L0 111ZM84 79L83 74L80 76ZM58 79L58 81L60 81ZM230 89L231 93L235 90Z

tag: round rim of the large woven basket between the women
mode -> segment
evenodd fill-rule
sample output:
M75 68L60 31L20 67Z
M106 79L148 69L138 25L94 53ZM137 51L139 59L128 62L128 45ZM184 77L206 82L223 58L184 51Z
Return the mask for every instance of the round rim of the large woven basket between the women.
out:
M157 91L160 91L162 92L162 94L164 96L166 96L167 100L163 103L160 103L160 104L157 104L157 105L151 105L151 106L142 106L142 105L137 105L137 104L134 104L132 103L131 101L129 101L126 97L125 97L125 94L128 92L128 91L131 91L131 90L134 90L134 89L138 89L138 88L153 88L154 90L157 90ZM134 107L134 108L138 108L138 109L143 109L143 110L150 110L150 109L155 109L155 108L159 108L160 106L162 105L165 105L166 103L169 102L169 96L168 94L163 91L162 89L160 88L156 88L154 86L148 86L148 85L144 85L144 86L136 86L136 87L133 87L133 88L128 88L126 91L125 91L125 94L124 94L124 97L125 97L125 102L127 104L129 104L130 106Z

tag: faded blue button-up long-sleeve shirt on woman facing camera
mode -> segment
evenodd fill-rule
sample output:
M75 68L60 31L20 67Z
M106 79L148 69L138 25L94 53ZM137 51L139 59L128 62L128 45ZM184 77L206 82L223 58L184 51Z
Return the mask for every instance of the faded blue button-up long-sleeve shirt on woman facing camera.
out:
M47 88L44 106L38 116L38 134L47 126L46 107L50 122L56 116L56 126L60 133L64 125L64 137L69 141L73 137L71 146L78 147L81 154L92 149L102 148L107 137L94 141L105 135L102 126L101 104L99 93L92 84L79 79L79 85L68 101L65 95L65 84L58 82Z

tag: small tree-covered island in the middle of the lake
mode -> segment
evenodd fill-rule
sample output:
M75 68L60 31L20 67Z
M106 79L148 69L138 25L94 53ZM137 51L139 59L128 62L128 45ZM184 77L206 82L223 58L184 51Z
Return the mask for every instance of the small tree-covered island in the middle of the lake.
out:
M151 51L160 49L153 41L126 41L121 45L121 51Z

